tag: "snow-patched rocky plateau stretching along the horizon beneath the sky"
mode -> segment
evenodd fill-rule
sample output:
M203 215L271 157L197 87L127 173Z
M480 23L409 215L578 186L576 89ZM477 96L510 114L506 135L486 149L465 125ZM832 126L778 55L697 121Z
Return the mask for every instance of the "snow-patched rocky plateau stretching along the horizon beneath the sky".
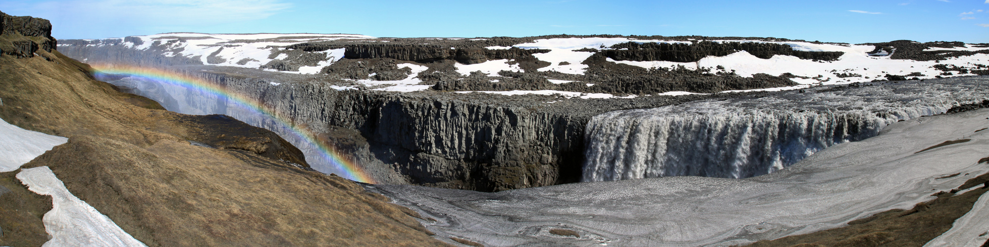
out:
M896 47L895 45L919 46ZM740 49L747 47L753 50ZM560 86L544 86L543 90L529 90L522 87L514 90L454 91L503 95L558 94L571 98L577 97L574 96L575 93L602 94L592 98L635 94L628 90L609 89L604 87L606 84L600 84L614 80L610 77L601 77L602 70L596 67L602 63L630 65L646 70L686 69L696 71L699 75L723 73L723 76L750 79L756 78L757 74L765 74L781 76L790 81L790 84L766 84L744 88L714 87L690 90L686 87L684 88L686 90L649 90L649 95L663 95L673 91L713 93L791 90L815 85L885 80L888 75L902 76L905 79L976 75L986 74L981 71L987 69L986 65L989 64L987 62L989 47L982 44L960 42L848 44L740 38L709 38L703 41L662 37L464 40L380 39L360 35L173 33L123 39L68 40L61 41L58 48L70 56L81 58L82 61L97 64L136 63L152 67L207 64L298 74L329 73L334 71L330 69L334 67L333 64L343 58L395 58L401 64L390 66L396 66L395 69L399 70L409 68L410 70L405 72L407 79L376 77L378 73L374 70L380 68L375 68L374 65L369 65L372 66L370 71L363 69L363 73L368 75L366 77L352 74L356 72L348 72L350 74L334 79L342 79L368 89L410 92L429 90L431 88L429 86L436 84L435 80L445 80L442 76L437 76L435 74L437 72L450 72L450 76L453 76L451 79L464 79L470 77L472 72L479 72L487 77L485 82L502 84L505 81L502 78L503 74L499 73L532 73L548 79L551 84L577 82L587 86L586 89L579 87L580 90L575 90L577 89L575 87L565 89ZM143 58L120 60L116 57L107 57L107 53L119 52L110 50L129 50L141 54L139 56ZM897 52L907 52L909 55ZM629 55L630 53L634 54ZM915 54L918 53L937 58L917 58ZM902 57L898 57L901 55ZM598 56L603 59L598 59ZM453 60L453 66L432 64L436 60L443 59ZM604 71L628 75L626 72L615 72L624 71L623 69L629 68L612 67L605 68ZM603 88L594 89L594 85ZM476 87L463 89L471 88ZM554 88L560 90L551 90ZM338 89L357 88L341 86Z

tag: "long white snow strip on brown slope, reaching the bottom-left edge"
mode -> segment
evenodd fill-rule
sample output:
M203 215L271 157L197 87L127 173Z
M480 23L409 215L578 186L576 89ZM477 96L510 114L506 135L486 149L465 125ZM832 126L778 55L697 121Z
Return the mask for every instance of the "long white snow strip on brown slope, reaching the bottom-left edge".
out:
M51 239L44 246L146 246L73 196L48 167L24 169L16 177L28 190L51 196L51 210L42 218Z

